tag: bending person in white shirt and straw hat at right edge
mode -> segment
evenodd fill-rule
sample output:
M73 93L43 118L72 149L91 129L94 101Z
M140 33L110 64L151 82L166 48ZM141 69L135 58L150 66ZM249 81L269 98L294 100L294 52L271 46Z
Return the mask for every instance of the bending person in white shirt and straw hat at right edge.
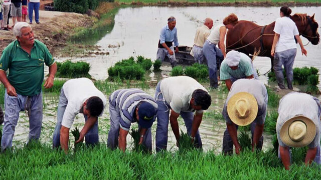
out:
M291 92L279 102L279 116L276 121L276 135L279 142L279 157L285 169L290 169L291 147L308 146L305 164L320 159L320 115L318 98L306 93Z

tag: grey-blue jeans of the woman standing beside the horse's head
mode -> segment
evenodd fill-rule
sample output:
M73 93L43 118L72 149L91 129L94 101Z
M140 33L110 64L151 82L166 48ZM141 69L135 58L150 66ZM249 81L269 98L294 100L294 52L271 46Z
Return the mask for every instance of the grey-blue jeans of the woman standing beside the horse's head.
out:
M282 65L284 65L284 69L286 72L287 88L293 89L292 87L293 63L294 63L295 55L296 55L296 48L275 52L273 69L274 69L277 84L282 89L285 88Z

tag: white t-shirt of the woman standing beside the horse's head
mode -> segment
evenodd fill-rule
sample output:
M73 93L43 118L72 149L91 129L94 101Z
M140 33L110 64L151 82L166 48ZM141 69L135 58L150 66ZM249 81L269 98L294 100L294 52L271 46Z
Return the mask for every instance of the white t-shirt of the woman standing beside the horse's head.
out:
M273 31L280 34L275 46L275 52L296 48L294 35L298 35L299 31L292 19L286 16L277 18Z

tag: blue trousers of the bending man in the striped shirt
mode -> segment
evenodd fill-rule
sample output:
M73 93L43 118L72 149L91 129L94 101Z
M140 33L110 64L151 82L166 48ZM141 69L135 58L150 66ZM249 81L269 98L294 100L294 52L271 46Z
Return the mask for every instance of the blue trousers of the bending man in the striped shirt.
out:
M109 104L109 115L110 129L108 132L107 146L111 149L116 149L118 147L120 128L119 120L121 119L119 108ZM140 130L140 126L138 127L138 130ZM151 151L151 127L146 130L142 143L149 151Z

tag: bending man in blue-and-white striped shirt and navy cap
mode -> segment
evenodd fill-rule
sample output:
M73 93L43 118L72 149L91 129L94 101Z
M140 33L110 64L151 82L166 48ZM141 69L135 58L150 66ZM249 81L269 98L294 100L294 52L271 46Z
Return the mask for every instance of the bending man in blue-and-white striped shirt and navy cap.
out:
M138 123L139 144L151 151L151 125L156 119L154 98L137 88L119 89L109 96L110 129L107 146L126 150L126 136L131 123Z

